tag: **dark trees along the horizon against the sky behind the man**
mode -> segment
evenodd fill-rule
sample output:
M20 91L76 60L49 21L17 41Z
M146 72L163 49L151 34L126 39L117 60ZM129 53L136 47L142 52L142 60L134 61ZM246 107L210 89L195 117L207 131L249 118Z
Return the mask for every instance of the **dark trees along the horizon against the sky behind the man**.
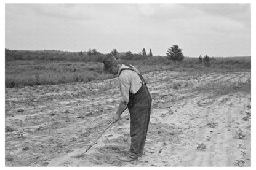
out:
M132 53L127 51L125 53L119 53L118 50L113 49L111 53L116 58L123 58L126 60L145 60L147 58L152 58L153 53L150 49L149 53L146 53L145 48L142 49L142 52ZM63 61L102 61L105 54L98 52L98 50L89 49L87 51L80 52L63 52L59 50L9 50L5 49L5 58L6 61L11 60L63 60ZM172 45L172 47L167 49L166 58L169 60L180 62L183 60L184 55L182 49L178 45ZM206 66L209 66L210 57L209 56L199 56L199 63L204 63Z

